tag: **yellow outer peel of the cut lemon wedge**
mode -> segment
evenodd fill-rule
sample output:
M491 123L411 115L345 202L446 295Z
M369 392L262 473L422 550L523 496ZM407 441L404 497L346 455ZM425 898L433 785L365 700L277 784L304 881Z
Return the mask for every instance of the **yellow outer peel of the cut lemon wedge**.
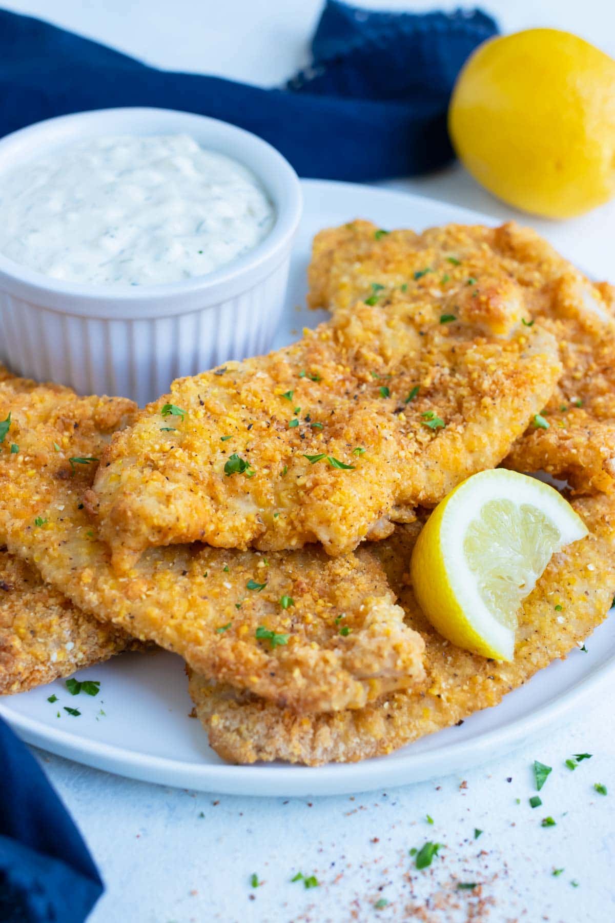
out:
M457 603L444 565L441 528L444 513L451 497L455 497L457 490L466 483L456 486L423 526L410 559L412 589L423 614L443 638L482 657L511 661L514 635L513 647L508 651L495 650L481 638Z

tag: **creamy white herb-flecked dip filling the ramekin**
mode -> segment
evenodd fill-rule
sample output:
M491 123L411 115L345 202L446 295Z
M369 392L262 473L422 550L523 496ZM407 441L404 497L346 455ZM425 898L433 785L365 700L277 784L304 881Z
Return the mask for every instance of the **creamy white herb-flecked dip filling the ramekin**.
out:
M66 282L155 285L230 263L274 209L241 163L187 135L94 138L0 176L0 253Z

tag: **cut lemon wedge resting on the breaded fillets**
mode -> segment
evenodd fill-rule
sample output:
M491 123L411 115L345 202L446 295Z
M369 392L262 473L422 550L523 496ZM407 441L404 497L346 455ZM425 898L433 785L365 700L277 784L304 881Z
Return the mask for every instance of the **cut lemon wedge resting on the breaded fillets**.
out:
M410 562L417 602L448 641L512 660L519 605L551 555L586 534L550 485L503 468L474 474L419 535Z

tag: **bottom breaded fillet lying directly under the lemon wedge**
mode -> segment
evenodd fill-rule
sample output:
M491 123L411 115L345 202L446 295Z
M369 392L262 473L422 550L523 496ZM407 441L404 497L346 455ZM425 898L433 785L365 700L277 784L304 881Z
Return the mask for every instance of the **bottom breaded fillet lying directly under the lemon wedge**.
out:
M590 534L554 555L526 598L512 663L463 651L432 629L408 583L408 560L420 524L398 526L390 538L371 545L370 553L383 562L408 626L425 641L426 686L395 692L361 711L297 715L193 674L190 691L211 747L225 760L240 763L359 761L498 704L537 670L585 641L609 610L615 588L615 500L582 497L573 506Z

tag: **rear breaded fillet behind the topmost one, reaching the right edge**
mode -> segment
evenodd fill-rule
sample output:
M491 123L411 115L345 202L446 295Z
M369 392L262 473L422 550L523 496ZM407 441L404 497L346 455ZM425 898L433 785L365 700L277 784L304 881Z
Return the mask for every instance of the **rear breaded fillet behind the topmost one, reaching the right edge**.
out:
M545 402L546 424L529 426L505 463L547 471L577 493L613 489L615 290L608 283L590 282L514 223L379 234L371 222L352 222L316 236L309 273L313 307L337 312L372 296L395 313L400 303L429 297L455 316L454 327L473 316L500 335L520 322L548 330L559 344L562 377ZM485 313L494 285L503 284L517 310Z

